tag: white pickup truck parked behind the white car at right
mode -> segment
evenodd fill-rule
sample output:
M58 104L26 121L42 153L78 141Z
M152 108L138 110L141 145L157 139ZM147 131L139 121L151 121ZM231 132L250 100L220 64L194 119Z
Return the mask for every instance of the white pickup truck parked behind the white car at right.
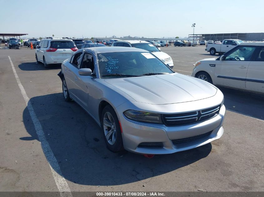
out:
M210 52L211 55L215 55L218 53L219 55L222 55L229 51L230 49L233 49L235 46L239 45L242 43L242 40L231 40L231 39L226 39L222 41L222 44L207 44L206 45L206 51Z

